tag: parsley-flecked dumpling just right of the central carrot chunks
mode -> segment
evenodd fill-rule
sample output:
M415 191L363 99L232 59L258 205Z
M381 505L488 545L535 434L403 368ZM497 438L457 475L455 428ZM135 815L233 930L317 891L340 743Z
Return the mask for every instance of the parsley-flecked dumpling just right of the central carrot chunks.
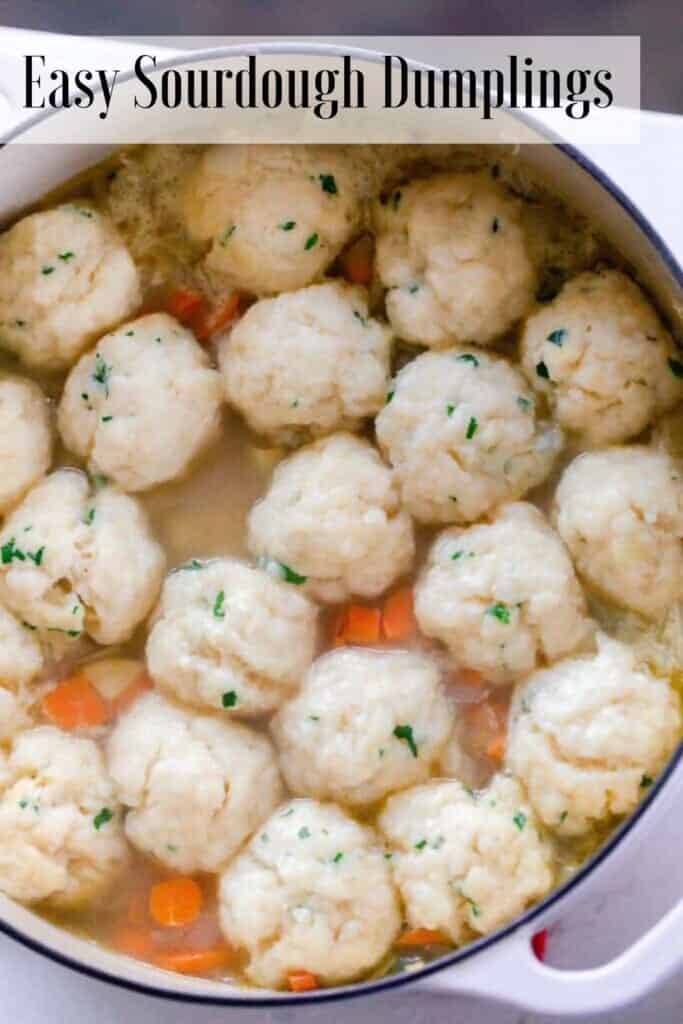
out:
M503 506L493 522L441 534L415 597L422 632L492 683L566 657L593 632L562 542L523 502Z

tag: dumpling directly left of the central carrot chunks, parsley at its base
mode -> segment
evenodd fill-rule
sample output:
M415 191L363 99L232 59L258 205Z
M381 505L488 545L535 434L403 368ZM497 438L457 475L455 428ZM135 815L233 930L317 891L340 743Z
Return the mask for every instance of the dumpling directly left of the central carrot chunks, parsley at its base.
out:
M258 715L299 687L313 659L316 625L315 605L263 569L193 559L164 584L147 667L179 700Z

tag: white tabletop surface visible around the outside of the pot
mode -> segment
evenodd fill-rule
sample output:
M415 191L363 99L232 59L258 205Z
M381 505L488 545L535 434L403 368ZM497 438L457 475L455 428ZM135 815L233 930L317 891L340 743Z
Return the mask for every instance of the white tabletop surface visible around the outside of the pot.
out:
M0 80L10 48L7 34L0 30ZM0 129L2 116L0 108ZM683 119L647 115L640 145L594 146L589 155L640 206L683 261ZM556 923L551 930L550 959L566 967L589 967L628 946L683 895L682 851L683 814L668 815L597 899L584 899ZM679 941L683 943L683 936ZM306 1024L377 1024L378 1019L392 1024L546 1024L548 1020L479 999L426 995L411 988L305 1013L172 1005L77 976L0 936L0 1024L236 1024L238 1020L246 1024L304 1020ZM606 1024L681 1024L683 975L637 1006L602 1020Z

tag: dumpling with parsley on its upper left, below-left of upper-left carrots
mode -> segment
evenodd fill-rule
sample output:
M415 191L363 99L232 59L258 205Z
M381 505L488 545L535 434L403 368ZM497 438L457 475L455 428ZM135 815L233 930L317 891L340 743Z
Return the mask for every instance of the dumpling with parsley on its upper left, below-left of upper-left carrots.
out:
M59 403L67 447L124 490L183 473L217 435L222 387L194 334L153 313L105 335L72 370Z

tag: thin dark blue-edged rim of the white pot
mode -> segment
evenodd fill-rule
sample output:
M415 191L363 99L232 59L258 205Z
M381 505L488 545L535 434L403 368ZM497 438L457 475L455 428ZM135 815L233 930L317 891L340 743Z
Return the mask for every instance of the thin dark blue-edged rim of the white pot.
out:
M78 37L75 37L78 38ZM173 68L178 65L189 63L202 59L210 59L213 57L220 56L238 56L247 55L249 53L317 53L317 54L330 54L331 56L338 56L348 53L352 56L356 56L359 59L367 59L372 61L379 61L382 59L383 54L377 50L369 50L360 47L342 47L331 43L304 43L297 42L296 40L291 40L287 42L263 42L263 43L244 43L244 44L233 44L227 46L209 47L199 50L189 50L181 53L174 53L168 57L157 60L156 70L163 71L167 68ZM414 69L428 69L430 66L423 63L418 60L413 60L408 58L408 63ZM122 74L122 80L127 80L133 75L133 70L130 69ZM15 126L6 136L7 142L12 142L19 139L19 137L29 130L33 125L43 121L49 117L53 117L58 114L59 110L48 110L41 111L38 114L28 118L19 125ZM635 223L636 227L649 242L652 248L656 251L657 255L660 257L663 263L669 270L670 274L678 285L678 287L683 291L683 267L680 265L673 252L664 241L658 231L650 224L644 214L640 211L638 206L622 190L622 188L616 185L609 175L602 171L593 160L586 156L577 146L563 142L558 139L553 133L543 124L539 123L536 118L529 115L525 111L509 111L509 113L518 118L521 121L526 122L529 127L535 129L539 135L548 139L544 144L553 145L556 150L563 153L571 162L577 164L586 174L593 178L604 190L611 197L612 200L624 210L628 217ZM552 139L552 141L551 141ZM310 1005L318 1005L323 1002L331 1002L337 999L352 999L357 998L362 995L374 995L380 992L387 992L394 989L403 987L404 985L412 984L416 981L421 981L439 971L447 970L449 968L455 967L476 953L483 952L485 949L496 945L496 943L502 941L507 936L518 931L521 928L526 928L526 926L531 925L538 919L541 919L547 913L552 907L557 903L568 897L578 887L580 887L584 880L588 878L589 874L593 872L603 861L605 861L612 853L612 851L620 846L622 841L640 823L640 819L643 817L647 809L652 805L652 803L658 799L660 793L664 791L665 786L669 780L674 775L676 768L679 764L683 763L683 740L679 742L676 751L672 754L666 768L661 771L658 778L656 779L654 785L648 792L647 796L640 802L636 809L622 822L622 824L611 834L608 840L606 840L602 846L590 857L582 866L571 876L566 882L554 889L545 899L541 900L539 903L533 904L523 913L519 914L509 924L505 925L503 928L489 935L482 936L480 939L469 943L460 949L455 949L452 952L445 953L443 956L439 956L437 959L431 961L425 964L424 967L419 968L415 971L405 971L400 974L388 975L383 978L377 978L372 981L361 981L351 983L345 986L336 986L334 988L316 989L311 992L302 993L288 993L288 992L272 992L264 994L250 995L249 992L252 990L246 989L245 994L208 994L208 993L197 993L197 992L186 992L174 989L172 987L172 976L169 975L169 986L167 988L162 988L160 985L156 985L153 982L143 983L138 981L132 981L128 978L121 977L119 975L113 974L109 971L102 970L100 968L92 967L84 961L76 959L75 957L66 955L59 952L56 948L32 938L27 933L20 931L7 922L0 918L0 933L6 935L7 937L14 939L28 949L33 952L37 952L40 955L46 956L49 959L62 965L63 967L70 968L71 970L77 972L78 974L84 975L89 978L93 978L97 981L101 981L111 985L116 985L120 988L127 989L128 991L138 992L143 995L157 996L159 998L168 999L183 1004L195 1004L201 1006L215 1006L215 1007L243 1007L243 1008L264 1008L264 1007L302 1007ZM123 954L121 956L124 959Z

